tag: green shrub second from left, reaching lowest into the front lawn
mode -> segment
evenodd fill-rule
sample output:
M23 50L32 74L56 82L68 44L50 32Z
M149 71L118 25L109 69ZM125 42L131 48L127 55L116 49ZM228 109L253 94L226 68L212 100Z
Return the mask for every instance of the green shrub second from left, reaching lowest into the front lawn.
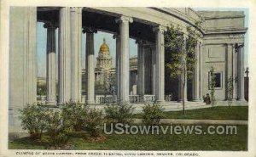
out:
M52 146L59 147L67 145L69 133L73 132L73 127L70 126L69 120L64 120L61 110L50 109L47 125L49 133L49 143Z

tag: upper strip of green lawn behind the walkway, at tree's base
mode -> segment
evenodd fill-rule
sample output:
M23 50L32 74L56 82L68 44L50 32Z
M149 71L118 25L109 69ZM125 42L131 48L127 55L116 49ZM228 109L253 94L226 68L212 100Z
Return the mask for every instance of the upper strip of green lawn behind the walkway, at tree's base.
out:
M142 114L134 115L143 118ZM247 106L216 106L207 109L165 112L164 119L194 119L194 120L248 120Z

